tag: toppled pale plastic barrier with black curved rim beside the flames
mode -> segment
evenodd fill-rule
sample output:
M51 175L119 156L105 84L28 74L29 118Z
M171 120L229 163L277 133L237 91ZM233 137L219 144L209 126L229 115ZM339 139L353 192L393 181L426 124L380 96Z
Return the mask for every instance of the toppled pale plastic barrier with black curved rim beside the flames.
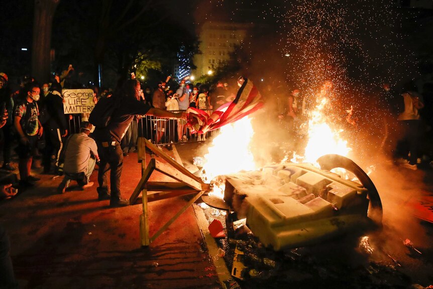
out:
M325 155L226 176L224 200L263 245L283 250L316 244L382 222L382 204L368 175L352 160ZM330 170L351 171L360 183Z

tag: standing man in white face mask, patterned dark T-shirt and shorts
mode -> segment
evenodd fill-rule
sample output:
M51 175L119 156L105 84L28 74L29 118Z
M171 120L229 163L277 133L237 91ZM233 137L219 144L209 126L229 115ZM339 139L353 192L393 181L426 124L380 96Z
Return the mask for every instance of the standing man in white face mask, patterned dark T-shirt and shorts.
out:
M39 109L36 102L39 100L41 89L35 82L29 83L25 90L26 98L17 104L14 111L14 125L19 138L18 142L18 169L20 171L20 186L32 186L40 180L30 175L33 155L38 138L42 136L43 128L39 121Z

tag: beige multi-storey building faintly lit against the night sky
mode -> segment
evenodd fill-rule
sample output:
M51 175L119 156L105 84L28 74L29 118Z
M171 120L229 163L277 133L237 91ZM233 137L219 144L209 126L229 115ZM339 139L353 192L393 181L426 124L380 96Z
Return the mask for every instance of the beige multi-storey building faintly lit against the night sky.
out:
M197 68L193 74L200 77L224 65L230 58L230 52L235 45L240 45L252 24L230 22L206 22L199 34L199 49L201 54L194 55Z

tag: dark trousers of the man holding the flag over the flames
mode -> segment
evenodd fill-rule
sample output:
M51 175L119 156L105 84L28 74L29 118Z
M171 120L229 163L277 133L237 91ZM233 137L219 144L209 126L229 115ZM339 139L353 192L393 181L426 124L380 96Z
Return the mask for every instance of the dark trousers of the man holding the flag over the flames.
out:
M105 142L106 144L106 142ZM116 145L103 145L102 142L96 141L99 154L99 169L98 169L98 194L104 194L109 191L108 174L110 172L110 191L111 200L119 201L121 198L120 178L123 169L123 152L119 143Z

